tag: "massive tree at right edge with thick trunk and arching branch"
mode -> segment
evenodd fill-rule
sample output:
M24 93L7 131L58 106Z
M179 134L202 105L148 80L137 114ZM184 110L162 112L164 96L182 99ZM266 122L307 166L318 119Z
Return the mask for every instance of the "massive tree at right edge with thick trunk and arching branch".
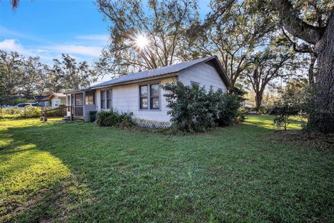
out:
M334 132L334 7L333 1L304 1L298 8L289 0L272 0L280 14L284 28L296 38L315 46L317 54L317 95L314 98L314 110L310 113L309 123L321 132ZM297 1L299 3L300 1ZM325 3L325 4L324 4ZM329 13L318 13L318 25L310 23L305 15L324 6Z

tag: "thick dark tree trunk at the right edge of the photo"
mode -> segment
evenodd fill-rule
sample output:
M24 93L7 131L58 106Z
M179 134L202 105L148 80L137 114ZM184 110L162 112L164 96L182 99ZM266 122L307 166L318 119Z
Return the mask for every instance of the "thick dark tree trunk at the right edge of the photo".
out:
M315 50L318 56L315 110L310 114L310 126L321 132L334 132L334 12Z

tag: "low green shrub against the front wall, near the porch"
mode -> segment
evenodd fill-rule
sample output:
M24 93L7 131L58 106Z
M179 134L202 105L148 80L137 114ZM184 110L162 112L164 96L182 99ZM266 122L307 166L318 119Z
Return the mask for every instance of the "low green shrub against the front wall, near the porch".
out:
M100 126L120 126L129 128L134 125L132 112L122 112L118 114L116 109L110 111L101 111L97 113L96 123Z

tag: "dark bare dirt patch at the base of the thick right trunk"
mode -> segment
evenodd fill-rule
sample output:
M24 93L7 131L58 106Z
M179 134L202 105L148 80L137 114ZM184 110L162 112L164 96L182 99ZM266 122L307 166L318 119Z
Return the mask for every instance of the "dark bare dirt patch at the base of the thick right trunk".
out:
M321 150L334 152L334 134L310 133L300 130L275 131L262 135L262 139L279 141L282 144L299 144L303 146L314 146Z

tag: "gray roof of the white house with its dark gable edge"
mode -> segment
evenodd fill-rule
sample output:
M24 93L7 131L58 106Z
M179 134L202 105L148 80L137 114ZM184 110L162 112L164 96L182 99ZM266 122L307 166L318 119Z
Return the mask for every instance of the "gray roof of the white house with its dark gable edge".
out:
M185 70L186 68L190 68L191 66L195 66L200 63L205 63L207 61L212 61L214 65L216 66L216 69L223 79L223 82L225 85L230 88L232 87L232 84L230 82L230 79L228 79L228 76L226 75L225 71L223 70L223 67L221 66L221 63L217 59L216 56L207 56L202 59L196 59L193 61L186 61L183 63L177 63L171 66L166 66L162 68L157 68L153 70L145 70L141 72L134 72L129 75L125 75L122 77L118 77L116 79L111 79L110 81L103 82L101 84L96 84L93 86L90 86L89 89L99 89L104 86L112 86L116 84L126 84L127 82L136 82L140 81L141 79L150 79L162 75L170 75L175 73L175 76L177 75L177 72L180 72L181 70Z

